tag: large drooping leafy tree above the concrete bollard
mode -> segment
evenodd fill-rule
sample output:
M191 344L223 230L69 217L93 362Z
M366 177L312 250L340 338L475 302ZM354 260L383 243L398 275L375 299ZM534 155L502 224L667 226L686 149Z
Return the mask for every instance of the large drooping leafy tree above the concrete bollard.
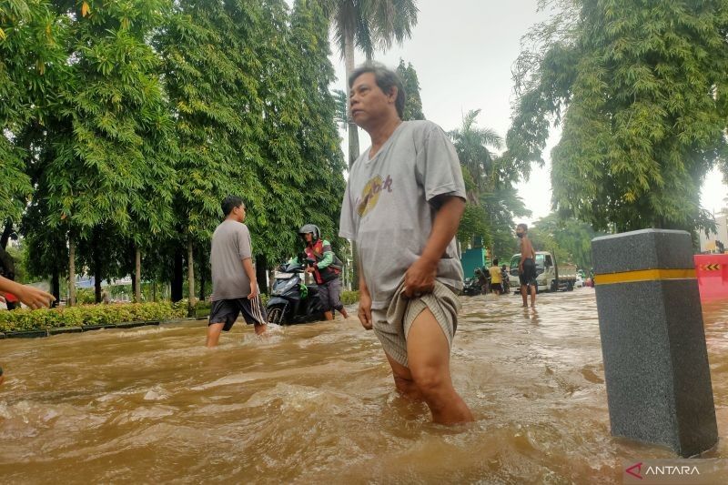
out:
M521 167L542 164L551 119L553 205L620 230L711 225L706 173L726 166L728 2L577 0L521 55L507 136Z

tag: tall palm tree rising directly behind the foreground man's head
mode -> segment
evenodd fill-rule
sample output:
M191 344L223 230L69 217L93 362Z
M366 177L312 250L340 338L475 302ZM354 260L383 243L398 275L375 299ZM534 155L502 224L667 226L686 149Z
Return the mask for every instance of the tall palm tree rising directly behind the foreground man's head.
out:
M354 71L354 49L359 47L370 60L374 51L389 49L410 38L417 24L417 0L325 0L327 14L344 58L346 78ZM346 92L349 92L347 86ZM359 133L348 117L349 167L359 157Z

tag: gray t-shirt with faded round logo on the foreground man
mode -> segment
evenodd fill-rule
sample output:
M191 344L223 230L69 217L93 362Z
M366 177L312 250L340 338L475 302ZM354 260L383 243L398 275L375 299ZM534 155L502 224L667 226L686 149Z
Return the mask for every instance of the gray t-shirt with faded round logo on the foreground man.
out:
M430 200L443 194L465 198L465 184L455 147L430 121L403 122L371 159L369 149L351 167L339 236L356 241L371 307L380 309L430 238L436 213ZM462 288L455 238L440 259L437 279Z

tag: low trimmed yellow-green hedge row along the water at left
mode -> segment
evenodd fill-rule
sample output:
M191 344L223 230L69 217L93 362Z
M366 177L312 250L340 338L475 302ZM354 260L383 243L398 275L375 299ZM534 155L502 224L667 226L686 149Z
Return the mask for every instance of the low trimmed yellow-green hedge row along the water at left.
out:
M168 320L187 317L187 305L162 303L119 303L77 307L16 309L0 311L0 332L83 327L134 321Z

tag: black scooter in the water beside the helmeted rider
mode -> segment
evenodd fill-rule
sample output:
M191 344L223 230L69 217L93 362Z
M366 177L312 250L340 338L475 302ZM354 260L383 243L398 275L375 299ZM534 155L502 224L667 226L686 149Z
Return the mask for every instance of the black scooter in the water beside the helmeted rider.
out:
M313 264L312 260L303 261L306 266ZM306 266L303 262L288 262L278 267L271 298L266 305L268 323L295 325L324 319L319 287L303 282Z

